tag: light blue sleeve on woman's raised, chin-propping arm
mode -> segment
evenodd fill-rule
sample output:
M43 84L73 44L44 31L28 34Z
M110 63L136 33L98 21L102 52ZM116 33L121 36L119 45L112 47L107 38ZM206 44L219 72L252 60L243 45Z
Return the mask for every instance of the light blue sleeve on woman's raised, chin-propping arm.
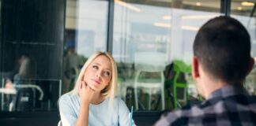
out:
M62 126L73 126L77 121L77 116L73 112L73 107L69 95L63 95L58 102L59 114Z

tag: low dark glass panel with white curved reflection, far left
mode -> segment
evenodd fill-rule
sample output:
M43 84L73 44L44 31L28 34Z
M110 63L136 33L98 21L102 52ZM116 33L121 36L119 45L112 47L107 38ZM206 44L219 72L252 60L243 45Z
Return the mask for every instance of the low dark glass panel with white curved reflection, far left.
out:
M61 93L60 80L14 79L2 80L7 87L2 93L1 111L51 111L57 110ZM13 85L10 87L10 85Z

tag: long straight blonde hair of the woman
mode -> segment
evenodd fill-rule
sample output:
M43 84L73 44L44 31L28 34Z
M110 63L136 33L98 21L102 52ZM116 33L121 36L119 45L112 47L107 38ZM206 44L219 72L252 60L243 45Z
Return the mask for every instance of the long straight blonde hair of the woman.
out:
M101 91L101 95L104 96L104 98L110 98L111 103L114 101L115 98L115 91L117 87L117 77L118 77L118 72L115 64L114 58L111 56L111 54L107 52L96 52L92 54L91 57L88 58L88 60L85 62L85 65L81 69L81 72L79 73L79 76L77 78L77 82L75 83L75 86L73 87L73 90L68 92L70 95L78 95L78 88L81 83L81 80L83 80L85 76L85 70L88 68L88 65L92 63L92 61L96 58L99 57L100 55L104 55L109 58L111 61L111 82Z

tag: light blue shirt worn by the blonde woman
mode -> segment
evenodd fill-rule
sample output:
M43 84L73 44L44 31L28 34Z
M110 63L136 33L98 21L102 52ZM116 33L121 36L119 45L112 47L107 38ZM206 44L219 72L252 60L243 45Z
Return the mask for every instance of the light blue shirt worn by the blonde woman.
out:
M62 120L62 126L75 125L79 113L81 100L78 95L62 95L59 98L58 106ZM109 98L104 99L100 104L89 105L88 125L89 126L124 126L130 123L130 111L121 98L115 98L112 109L109 106ZM133 126L134 120L133 120Z

